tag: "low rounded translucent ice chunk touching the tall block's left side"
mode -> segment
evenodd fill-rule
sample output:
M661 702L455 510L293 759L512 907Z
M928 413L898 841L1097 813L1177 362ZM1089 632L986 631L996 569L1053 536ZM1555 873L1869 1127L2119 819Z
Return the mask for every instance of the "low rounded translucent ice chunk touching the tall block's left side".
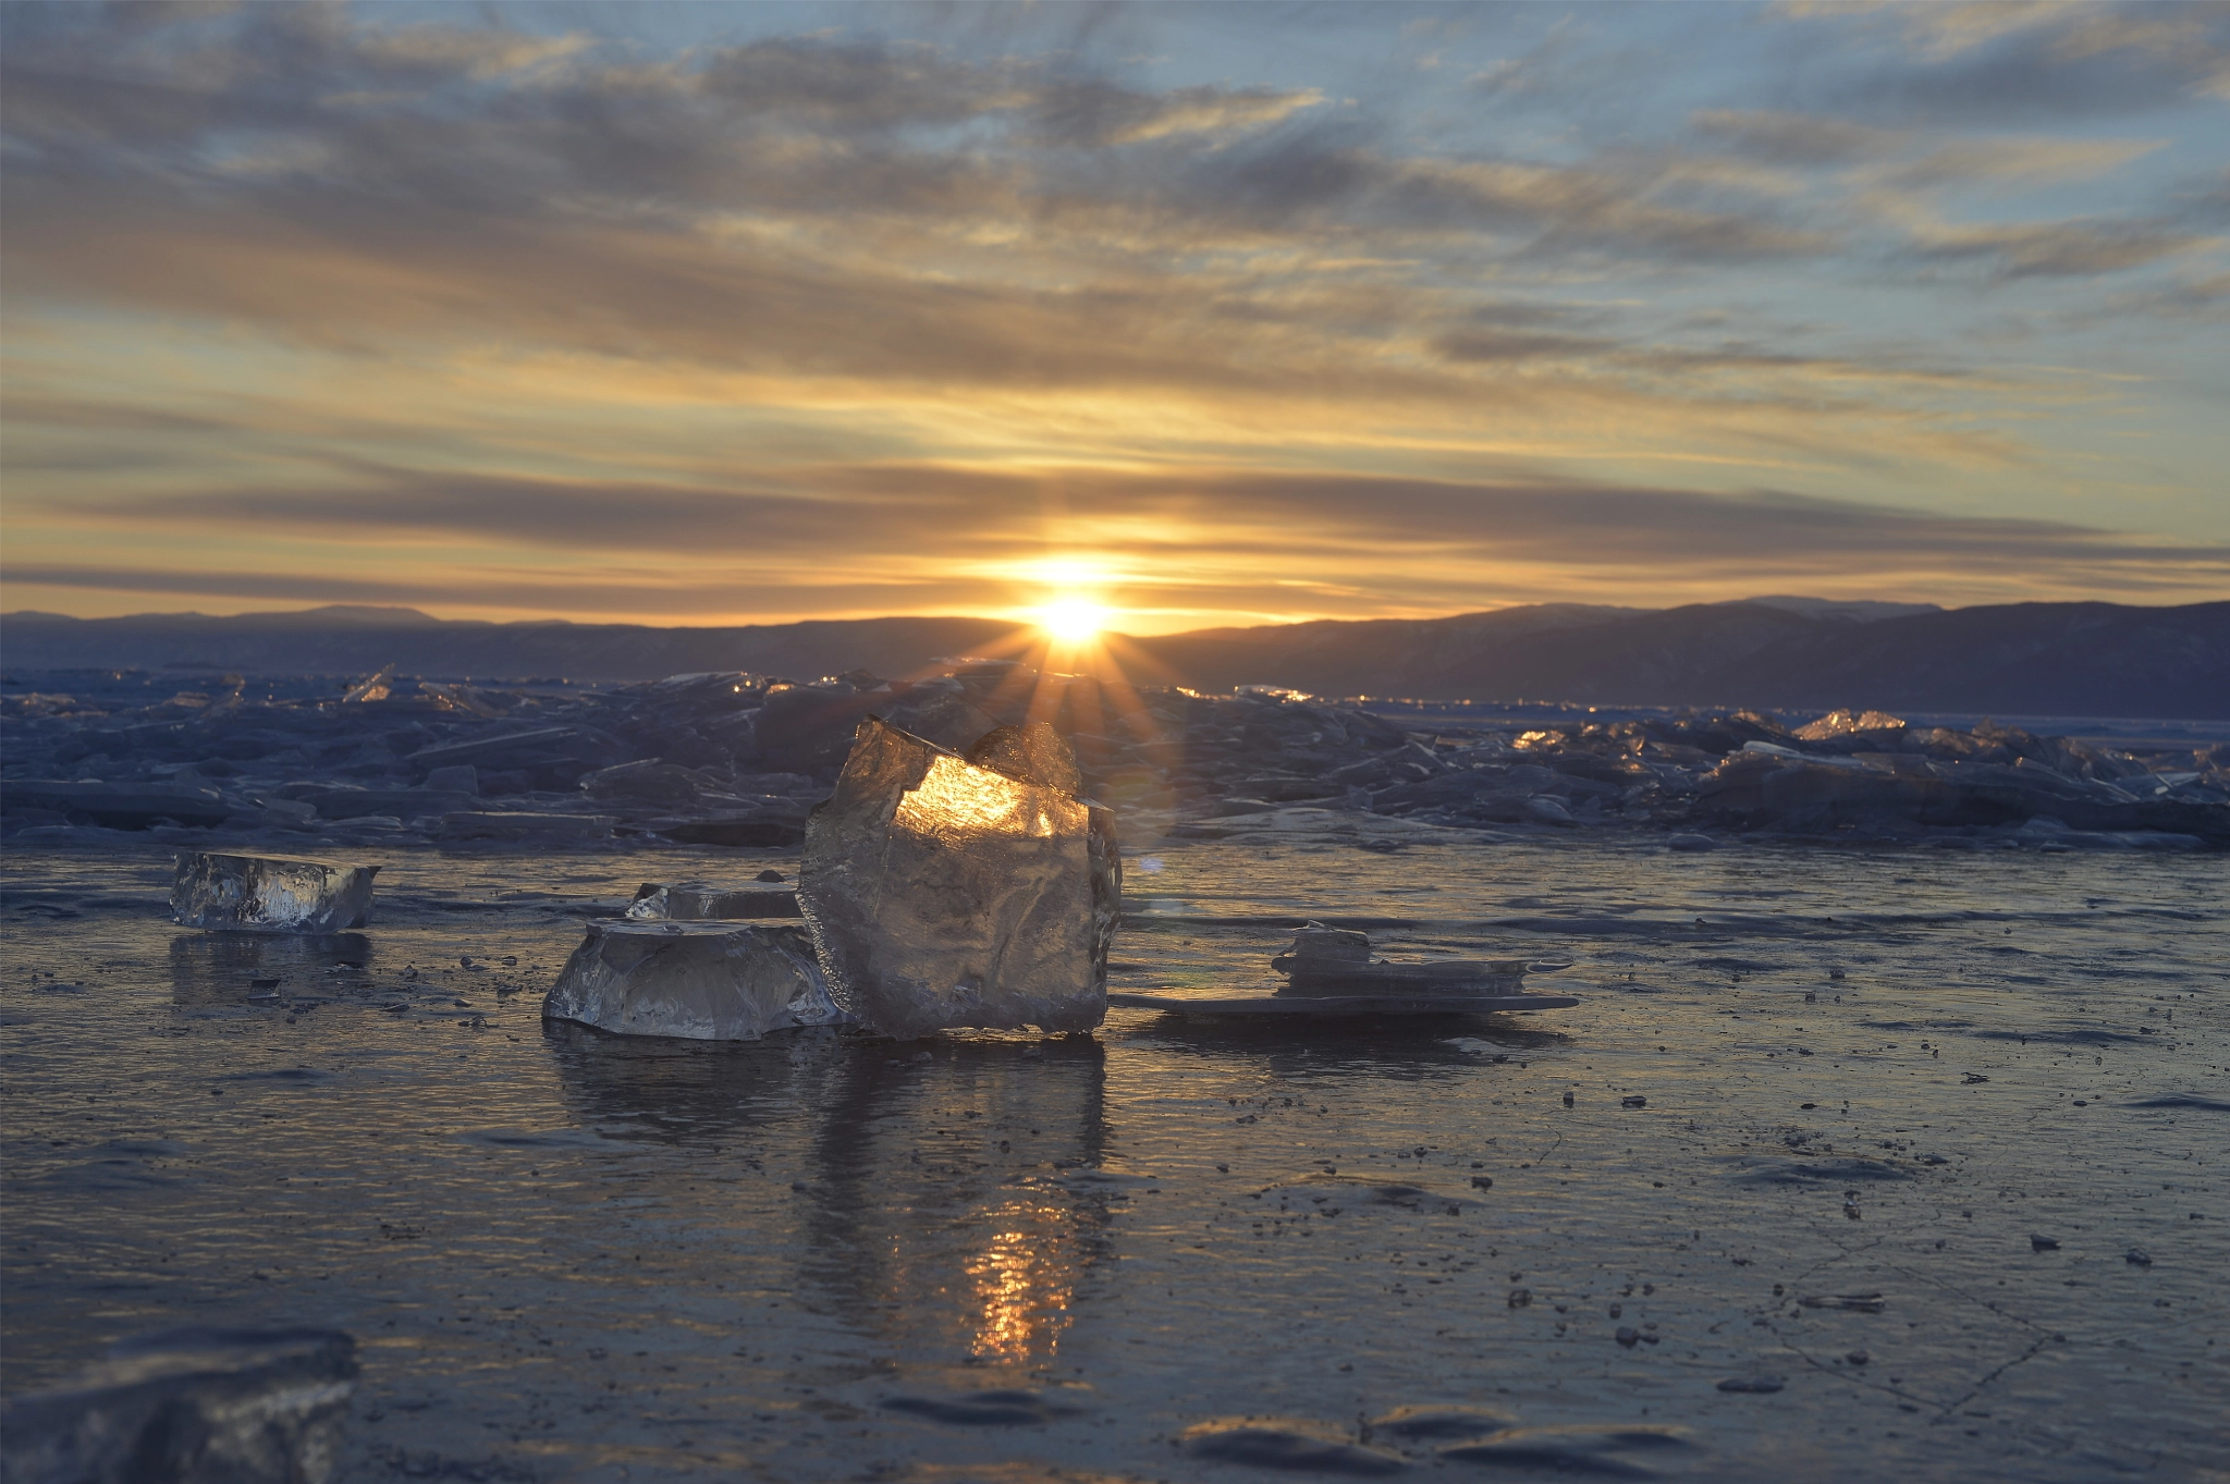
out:
M542 1016L682 1041L758 1041L845 1021L812 934L787 922L591 922Z

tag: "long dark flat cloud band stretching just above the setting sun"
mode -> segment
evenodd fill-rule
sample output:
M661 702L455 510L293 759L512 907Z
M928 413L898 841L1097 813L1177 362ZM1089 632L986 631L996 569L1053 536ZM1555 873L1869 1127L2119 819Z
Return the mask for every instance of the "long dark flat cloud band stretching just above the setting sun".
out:
M2147 544L2107 530L1945 517L1788 492L1742 497L1579 481L1481 484L1198 470L1126 475L1095 468L979 470L934 463L783 470L780 492L651 481L468 479L386 470L379 484L328 490L227 490L76 501L78 515L134 528L321 533L337 541L491 537L546 550L694 553L705 559L818 555L847 562L910 553L946 562L1030 555L1044 517L1099 524L1108 553L1164 555L1211 539L1264 557L1342 550L1441 553L1492 562L1744 559L1791 564L1931 559L1987 568L2174 559L2221 566L2230 546ZM1251 535L1249 535L1251 533ZM2230 568L2226 568L2230 570Z

